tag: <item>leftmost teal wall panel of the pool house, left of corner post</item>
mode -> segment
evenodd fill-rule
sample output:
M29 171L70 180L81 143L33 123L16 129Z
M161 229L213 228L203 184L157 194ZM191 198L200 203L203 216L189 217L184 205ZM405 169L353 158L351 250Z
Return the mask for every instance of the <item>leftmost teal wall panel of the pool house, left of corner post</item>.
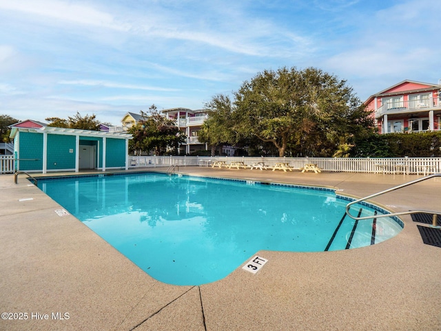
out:
M25 159L35 159L35 161ZM43 134L19 132L19 170L41 169L43 169Z

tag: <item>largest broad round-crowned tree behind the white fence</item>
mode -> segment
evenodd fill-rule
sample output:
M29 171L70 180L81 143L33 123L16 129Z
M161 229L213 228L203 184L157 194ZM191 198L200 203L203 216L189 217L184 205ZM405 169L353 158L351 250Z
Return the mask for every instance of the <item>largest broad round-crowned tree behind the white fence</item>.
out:
M304 156L347 154L354 134L373 124L346 81L317 68L265 70L234 96L236 129L273 143L280 157L288 148Z

